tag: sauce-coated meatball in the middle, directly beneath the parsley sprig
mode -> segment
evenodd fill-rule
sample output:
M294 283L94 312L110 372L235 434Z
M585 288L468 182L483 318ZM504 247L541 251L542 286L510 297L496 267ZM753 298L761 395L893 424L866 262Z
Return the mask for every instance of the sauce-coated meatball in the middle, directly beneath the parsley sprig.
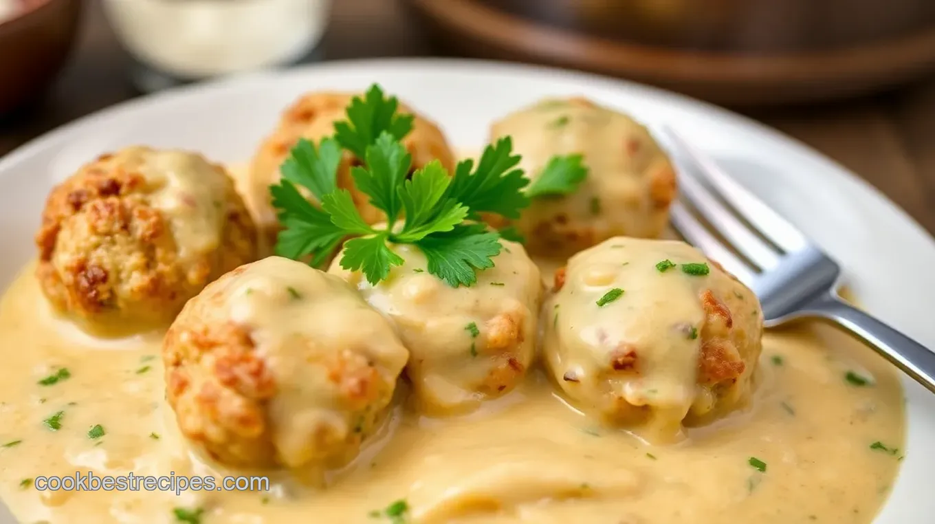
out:
M521 244L501 241L496 266L479 271L469 287L430 274L425 255L407 244L391 245L405 262L377 285L342 269L340 255L332 262L329 272L396 324L412 355L406 371L416 403L426 413L467 413L519 384L532 362L539 269Z

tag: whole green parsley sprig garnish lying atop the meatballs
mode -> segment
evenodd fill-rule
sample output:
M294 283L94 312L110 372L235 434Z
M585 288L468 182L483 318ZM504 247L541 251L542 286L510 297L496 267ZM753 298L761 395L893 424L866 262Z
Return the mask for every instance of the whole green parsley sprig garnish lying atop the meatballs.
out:
M306 139L295 144L282 164L281 182L269 188L282 226L277 255L309 257L321 266L346 240L340 266L377 284L403 264L390 244L414 244L429 273L453 287L471 285L477 270L494 267L500 239L508 236L480 224L481 213L519 218L531 197L565 194L583 179L580 156L554 159L537 179L545 177L541 189L530 195L509 137L487 146L476 165L460 162L451 176L439 161L413 171L412 157L400 142L413 119L397 109L396 98L373 85L364 98L352 99L347 120L335 124L334 138L317 148ZM351 168L353 182L383 211L385 226L367 224L351 193L338 188L342 149L363 161L364 166Z

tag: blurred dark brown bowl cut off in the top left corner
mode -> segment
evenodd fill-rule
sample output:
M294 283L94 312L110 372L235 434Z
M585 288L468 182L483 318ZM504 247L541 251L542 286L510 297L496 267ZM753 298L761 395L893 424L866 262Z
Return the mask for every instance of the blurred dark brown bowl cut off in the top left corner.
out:
M75 41L81 0L19 0L0 20L0 115L42 95Z

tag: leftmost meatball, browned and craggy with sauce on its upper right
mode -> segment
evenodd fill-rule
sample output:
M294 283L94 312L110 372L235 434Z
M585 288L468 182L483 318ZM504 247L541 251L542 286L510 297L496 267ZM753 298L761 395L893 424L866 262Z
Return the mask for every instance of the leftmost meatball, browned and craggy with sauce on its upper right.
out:
M256 257L256 231L221 166L130 147L52 189L36 276L55 309L92 330L165 325L225 271Z

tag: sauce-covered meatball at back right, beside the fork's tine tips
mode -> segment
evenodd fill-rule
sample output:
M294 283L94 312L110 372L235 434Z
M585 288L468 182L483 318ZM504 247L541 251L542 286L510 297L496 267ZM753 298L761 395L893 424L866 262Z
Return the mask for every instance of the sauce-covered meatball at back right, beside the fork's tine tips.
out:
M583 98L548 99L496 122L491 135L512 137L534 181L554 154L579 153L589 169L578 191L536 198L515 222L530 253L570 255L617 235L656 238L665 228L675 171L625 114Z

